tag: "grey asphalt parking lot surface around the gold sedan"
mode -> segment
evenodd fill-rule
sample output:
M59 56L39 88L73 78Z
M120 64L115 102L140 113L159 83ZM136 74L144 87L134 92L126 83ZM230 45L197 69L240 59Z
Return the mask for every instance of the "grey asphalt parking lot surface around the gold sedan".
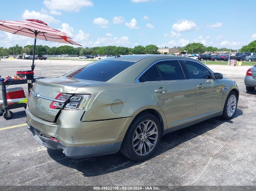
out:
M44 76L49 60L36 60L35 75ZM29 69L31 60L0 61L0 75ZM52 60L45 76L63 75L88 61ZM0 129L0 186L253 186L256 185L256 90L245 91L244 75L251 66L208 65L235 80L240 90L232 120L213 118L161 138L148 161L134 162L122 154L71 159L62 151L37 144L26 126ZM26 85L22 85L26 89ZM0 116L0 128L25 124L25 110Z

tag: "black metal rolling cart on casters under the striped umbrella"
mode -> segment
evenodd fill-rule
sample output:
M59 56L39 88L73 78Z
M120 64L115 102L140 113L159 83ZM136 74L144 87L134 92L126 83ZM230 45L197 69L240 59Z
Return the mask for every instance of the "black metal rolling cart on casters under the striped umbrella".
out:
M0 116L3 116L5 119L12 119L13 113L10 111L11 109L16 109L20 107L24 107L26 109L27 103L15 103L15 104L7 104L6 98L6 86L9 85L17 85L17 84L28 84L28 94L35 83L36 79L40 79L40 77L34 76L33 79L25 79L25 80L12 80L12 81L0 81L1 89L2 89L2 97L3 97L3 105L0 107Z

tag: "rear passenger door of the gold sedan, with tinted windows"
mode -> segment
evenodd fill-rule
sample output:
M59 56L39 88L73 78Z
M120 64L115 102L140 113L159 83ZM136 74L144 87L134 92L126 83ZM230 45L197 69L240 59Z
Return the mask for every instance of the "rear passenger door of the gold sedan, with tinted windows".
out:
M195 118L195 85L187 78L179 59L158 60L140 78L163 110L168 128Z

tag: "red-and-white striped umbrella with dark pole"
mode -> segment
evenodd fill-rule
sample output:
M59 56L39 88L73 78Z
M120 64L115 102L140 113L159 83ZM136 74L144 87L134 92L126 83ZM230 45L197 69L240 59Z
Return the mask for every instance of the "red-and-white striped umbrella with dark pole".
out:
M35 38L34 52L33 52L33 62L31 69L34 70L34 60L35 60L35 44L36 39L42 39L47 41L53 41L58 43L68 43L73 45L78 45L77 42L71 39L66 33L60 30L49 27L45 22L37 19L27 19L26 21L1 21L0 20L0 30L19 34L27 37Z

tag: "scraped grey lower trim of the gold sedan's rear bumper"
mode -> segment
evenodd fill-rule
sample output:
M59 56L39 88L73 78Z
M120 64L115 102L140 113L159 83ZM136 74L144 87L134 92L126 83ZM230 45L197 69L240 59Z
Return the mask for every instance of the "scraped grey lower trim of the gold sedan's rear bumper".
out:
M46 137L39 130L33 128L29 124L27 125L27 127L32 132L35 141L38 142L40 145L43 145L47 148L61 150L69 158L85 158L106 154L114 154L119 151L122 144L122 142L116 142L104 145L68 147L61 142L55 142L51 140L49 137Z

